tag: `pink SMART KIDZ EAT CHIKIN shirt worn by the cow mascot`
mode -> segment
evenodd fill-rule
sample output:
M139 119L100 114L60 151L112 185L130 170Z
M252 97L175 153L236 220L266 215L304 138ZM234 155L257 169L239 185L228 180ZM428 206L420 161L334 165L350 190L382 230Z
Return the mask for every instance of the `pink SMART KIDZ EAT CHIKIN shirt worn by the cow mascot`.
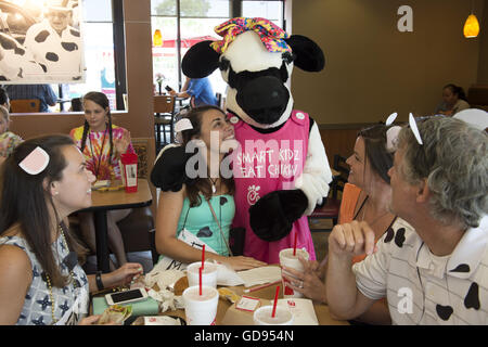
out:
M232 115L231 117L232 123ZM235 118L234 118L235 119ZM233 227L246 229L244 255L268 264L279 264L281 249L305 247L310 260L316 259L307 216L293 224L290 234L275 242L266 242L249 226L249 207L266 194L294 189L305 166L308 150L310 119L308 114L293 111L285 125L272 133L260 133L246 123L234 121L235 139L240 146L232 153L235 181L235 217Z

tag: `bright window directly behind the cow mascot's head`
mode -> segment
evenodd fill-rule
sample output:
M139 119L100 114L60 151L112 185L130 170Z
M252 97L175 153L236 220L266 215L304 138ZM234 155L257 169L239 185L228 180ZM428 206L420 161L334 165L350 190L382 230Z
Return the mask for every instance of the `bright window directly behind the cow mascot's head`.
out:
M237 5L235 4L237 3ZM241 9L242 8L242 9ZM193 44L209 39L220 39L214 28L235 16L267 17L279 26L283 23L283 2L280 1L230 1L230 0L152 0L152 33L158 29L163 44L153 42L153 74L155 92L157 76L163 75L162 89L170 86L180 90L184 83L181 73L182 56ZM178 51L178 36L181 50ZM227 83L220 70L209 76L215 92L224 94Z

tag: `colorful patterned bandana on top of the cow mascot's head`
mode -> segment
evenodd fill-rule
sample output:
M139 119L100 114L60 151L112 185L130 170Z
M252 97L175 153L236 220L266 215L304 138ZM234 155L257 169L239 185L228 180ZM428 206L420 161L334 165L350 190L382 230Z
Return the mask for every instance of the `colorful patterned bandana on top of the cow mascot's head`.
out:
M239 17L227 21L215 28L215 33L223 39L210 43L217 53L224 53L237 35L253 30L261 39L268 52L292 52L291 47L284 41L290 36L279 26L265 18Z

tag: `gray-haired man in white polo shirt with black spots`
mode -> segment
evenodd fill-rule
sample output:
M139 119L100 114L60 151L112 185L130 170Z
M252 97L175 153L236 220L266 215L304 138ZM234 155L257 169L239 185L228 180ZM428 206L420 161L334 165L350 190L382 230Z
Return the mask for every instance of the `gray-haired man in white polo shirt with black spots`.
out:
M354 319L386 297L394 324L488 324L487 133L445 117L418 128L400 131L389 171L393 228L376 244L364 222L329 237L331 313Z

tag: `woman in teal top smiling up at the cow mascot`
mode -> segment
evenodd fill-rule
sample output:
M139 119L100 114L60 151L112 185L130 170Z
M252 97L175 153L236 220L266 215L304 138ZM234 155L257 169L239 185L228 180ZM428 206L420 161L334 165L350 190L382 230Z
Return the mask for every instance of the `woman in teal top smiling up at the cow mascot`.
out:
M182 146L196 145L204 149L198 151L206 153L203 163L215 162L216 167L218 164L220 168L226 155L220 153L221 144L234 138L233 127L226 120L226 114L216 106L201 106L190 111L185 118L179 121L184 125L184 129L178 133ZM216 136L219 147L210 146L210 137ZM218 163L214 158L218 158ZM203 175L198 170L192 184L183 184L177 192L162 190L156 218L157 252L184 264L201 260L201 249L178 240L184 229L216 252L205 252L205 259L228 264L234 270L265 266L266 264L254 258L229 256L229 230L235 214L234 184L232 178L221 177L220 170L211 172L218 175L209 175L207 165L206 170L203 168Z

